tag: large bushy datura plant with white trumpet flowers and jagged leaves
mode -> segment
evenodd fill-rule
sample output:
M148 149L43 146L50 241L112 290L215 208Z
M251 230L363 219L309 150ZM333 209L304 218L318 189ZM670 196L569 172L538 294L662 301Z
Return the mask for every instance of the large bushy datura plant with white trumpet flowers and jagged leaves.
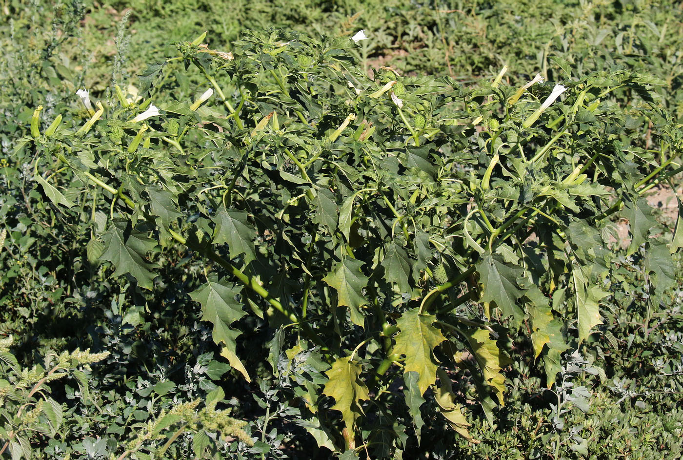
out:
M130 82L137 102L115 87L44 131L36 111L18 148L45 200L92 223L84 249L111 277L154 295L164 247L204 260L189 296L223 357L263 374L240 355L262 325L259 378L294 388L320 446L398 452L426 410L477 442L453 383L473 382L491 424L521 354L550 388L563 352L600 340L615 244L646 254L651 302L666 294L683 230L652 234L644 195L681 171L682 134L657 79L611 68L520 88L504 69L465 87L368 77L358 36L205 38ZM640 103L620 107L623 92ZM300 358L308 379L288 377Z

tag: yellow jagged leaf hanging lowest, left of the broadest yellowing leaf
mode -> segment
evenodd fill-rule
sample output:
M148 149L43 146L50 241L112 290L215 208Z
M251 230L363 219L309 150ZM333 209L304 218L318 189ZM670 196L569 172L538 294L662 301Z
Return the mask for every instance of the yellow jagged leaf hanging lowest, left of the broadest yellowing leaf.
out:
M354 432L356 419L363 414L359 401L370 399L365 383L359 378L361 370L361 365L351 362L350 357L337 358L326 372L329 381L322 390L323 394L335 398L331 409L342 413L342 420L350 432Z

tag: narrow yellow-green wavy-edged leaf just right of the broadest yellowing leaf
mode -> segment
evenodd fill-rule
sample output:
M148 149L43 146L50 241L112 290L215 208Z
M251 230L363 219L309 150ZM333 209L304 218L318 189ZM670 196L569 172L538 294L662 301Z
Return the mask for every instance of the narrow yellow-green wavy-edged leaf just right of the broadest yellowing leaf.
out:
M505 405L503 402L505 375L501 371L510 364L510 358L498 348L498 344L490 338L486 329L469 329L464 331L464 334L467 336L479 368L482 369L484 381L493 388L501 406Z

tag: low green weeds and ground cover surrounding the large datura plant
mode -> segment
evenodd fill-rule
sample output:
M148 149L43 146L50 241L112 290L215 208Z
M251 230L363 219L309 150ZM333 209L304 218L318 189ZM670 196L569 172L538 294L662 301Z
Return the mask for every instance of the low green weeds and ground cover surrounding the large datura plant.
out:
M167 111L172 103L194 100L206 88L201 66L174 70L169 90L164 84L171 83L160 80L165 77L155 64L176 56L191 61L197 55L183 49L182 43L187 46L204 31L208 31L204 40L208 48L225 52L253 50L259 43L284 42L288 37L305 42L306 38L293 35L300 32L313 41L325 36L328 41L323 43L331 44L346 37L349 45L343 53L354 57L359 79L365 72L380 80L378 68L391 65L415 92L427 93L423 88L433 88L434 82L441 81L438 78L445 77L449 84L462 83L466 88L462 94L474 92L467 94L474 94L472 100L479 97L477 101L507 98L536 73L547 81L571 81L578 87L587 83L586 76L595 75L591 72L607 72L615 78L626 69L643 79L646 88L639 91L625 83L615 89L609 96L614 107L604 111L609 112L604 115L605 126L612 126L616 118L624 119L614 126L630 130L629 141L646 157L632 160L634 174L643 177L656 171L657 165L668 164L675 170L680 164L683 5L678 1L100 4L3 0L0 8L0 442L4 444L16 427L35 430L26 435L26 442L3 452L8 458L10 450L14 458L150 458L145 457L149 455L145 446L164 447L171 438L163 454L169 458L307 459L328 458L332 450L344 450L339 448L344 445L342 437L316 424L317 418L303 420L298 408L306 397L301 390L305 382L313 382L318 390L324 385L329 365L320 354L295 349L295 342L288 342L287 347L277 344L277 325L247 316L240 323L237 349L242 361L249 363L252 378L246 381L221 357L212 324L201 320L197 295L191 295L205 279L201 258L169 240L152 256L159 277L150 293L140 288L139 280L112 276L115 268L105 263L109 260L100 260L109 208L85 207L83 213L92 213L85 220L83 213L65 212L55 200L46 200L45 189L38 186L34 168L41 177L56 170L49 169L48 162L36 165L39 150L26 140L38 105L43 106L39 116L44 133L58 115L64 126L76 128L89 118L75 95L82 87L89 89L92 100L106 101L108 107L117 100L115 85L131 100L137 100L136 93L146 97L158 91L156 100ZM270 32L273 28L281 32ZM348 37L359 29L366 29L369 38L350 46ZM503 66L510 69L503 76L503 86L509 90L501 91L511 93L497 95L491 82ZM435 78L421 80L423 75ZM438 86L438 91L444 87ZM540 94L546 95L549 83L544 88ZM665 115L649 116L650 121L643 123L642 101L648 97L653 110ZM410 103L409 96L405 100ZM329 102L335 126L346 117L339 108L343 105L344 100ZM391 107L390 100L386 107ZM255 122L266 114L265 109L253 110L244 118L245 123L254 123L240 139L251 138ZM479 104L476 110L486 119L497 113L480 109ZM518 115L528 115L530 110ZM448 113L444 113L441 116L446 118ZM135 132L124 124L124 115L119 125L102 120L96 125L97 135L109 139L120 126L133 139ZM632 124L628 115L635 120ZM212 116L202 121L210 122ZM117 121L114 116L109 120ZM586 123L592 120L587 118ZM484 129L490 131L490 125L482 124L478 132ZM211 136L212 141L219 139L217 133ZM164 151L171 150L167 146ZM478 160L472 161L476 166ZM485 165L475 169L478 180L485 170ZM557 170L558 175L565 172ZM671 178L675 185L680 176ZM73 183L60 182L66 190ZM615 187L620 183L615 182ZM678 213L667 213L667 205L676 208L678 203L671 195L661 196L670 196L671 202L661 198L662 210L655 210L658 223L647 217L641 234L660 236L669 243ZM77 198L76 193L65 192L65 200ZM102 195L100 199L104 200ZM185 224L201 219L200 208L185 205L189 217ZM623 224L624 216L628 218L626 212L615 213L610 219ZM630 224L636 225L633 219ZM209 224L202 225L209 231ZM548 364L532 353L529 325L511 327L506 331L509 340L499 342L514 358L503 366L505 405L496 405L491 398L488 409L486 401L480 404L481 388L470 370L460 370L454 378L453 393L467 407L466 432L476 444L446 422L443 407L433 403L438 395L429 390L425 398L432 404L422 409L418 404L424 423L421 430L412 407L411 414L408 408L396 409L389 414L390 420L382 419L387 414L381 411L373 412L359 433L367 450L349 449L340 457L680 457L680 254L664 258L671 260L671 266L653 275L650 239L644 245L639 244L644 239L622 245L623 232L613 239L607 233L605 241L614 255L604 276L607 295L600 299L603 324L579 351L568 349L561 355L553 368L559 373L552 388L546 385ZM658 250L668 253L663 247ZM446 265L449 262L458 265L459 260L447 259ZM438 265L433 260L429 264ZM654 283L666 289L654 290L653 276L659 276ZM565 329L575 327L570 324ZM276 346L283 353L270 355L270 362L264 360ZM84 349L95 354L81 352ZM46 377L61 374L64 377ZM38 404L38 390L47 393L48 387L48 402L40 411L31 412L29 407ZM404 394L400 381L390 390ZM32 402L22 408L27 401ZM330 398L321 404L326 409L332 406ZM331 424L344 426L329 413L334 419ZM416 431L421 432L419 439ZM397 439L394 433L406 434ZM163 439L157 439L162 435Z

